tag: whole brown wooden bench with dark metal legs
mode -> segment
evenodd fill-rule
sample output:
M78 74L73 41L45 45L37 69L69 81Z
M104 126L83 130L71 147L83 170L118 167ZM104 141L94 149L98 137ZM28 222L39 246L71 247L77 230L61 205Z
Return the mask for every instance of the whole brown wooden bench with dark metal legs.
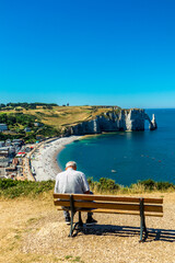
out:
M148 238L145 216L163 217L163 198L88 194L54 194L54 204L58 206L58 209L71 211L69 237L73 236L77 226L82 225L81 211L140 216L140 241ZM73 226L77 211L79 211L79 221Z

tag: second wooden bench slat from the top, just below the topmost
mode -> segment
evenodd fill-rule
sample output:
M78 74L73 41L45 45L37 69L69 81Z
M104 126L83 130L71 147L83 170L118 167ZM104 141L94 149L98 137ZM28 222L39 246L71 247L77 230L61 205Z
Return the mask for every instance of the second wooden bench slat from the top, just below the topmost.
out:
M70 206L68 201L55 201L56 206ZM119 209L119 210L140 210L139 204L121 204L121 203L100 203L100 202L74 202L75 208L103 208L103 209ZM144 211L162 213L161 205L144 205Z

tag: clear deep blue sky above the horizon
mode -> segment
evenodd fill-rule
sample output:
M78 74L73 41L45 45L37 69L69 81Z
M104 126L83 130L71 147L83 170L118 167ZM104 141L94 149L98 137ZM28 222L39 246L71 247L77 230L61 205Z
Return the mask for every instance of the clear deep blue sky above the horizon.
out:
M0 103L175 107L174 0L5 0Z

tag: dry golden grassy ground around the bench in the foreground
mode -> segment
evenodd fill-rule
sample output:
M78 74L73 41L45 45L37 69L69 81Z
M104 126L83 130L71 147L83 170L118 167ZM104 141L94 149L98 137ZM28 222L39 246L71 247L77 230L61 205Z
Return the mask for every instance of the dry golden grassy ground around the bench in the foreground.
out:
M68 238L69 227L62 211L54 207L51 193L35 199L1 199L0 262L173 263L175 193L144 196L164 197L164 217L147 218L152 235L145 243L138 242L140 222L136 216L95 214L98 225L94 231Z

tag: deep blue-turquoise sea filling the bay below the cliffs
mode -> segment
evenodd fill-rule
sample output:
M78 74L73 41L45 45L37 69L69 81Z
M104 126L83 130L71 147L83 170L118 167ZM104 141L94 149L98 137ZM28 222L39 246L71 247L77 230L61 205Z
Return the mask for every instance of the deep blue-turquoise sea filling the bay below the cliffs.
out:
M150 132L119 132L97 135L74 141L58 156L63 169L69 160L78 170L98 181L110 178L121 185L153 179L175 184L175 108L145 110L155 114L158 129Z

